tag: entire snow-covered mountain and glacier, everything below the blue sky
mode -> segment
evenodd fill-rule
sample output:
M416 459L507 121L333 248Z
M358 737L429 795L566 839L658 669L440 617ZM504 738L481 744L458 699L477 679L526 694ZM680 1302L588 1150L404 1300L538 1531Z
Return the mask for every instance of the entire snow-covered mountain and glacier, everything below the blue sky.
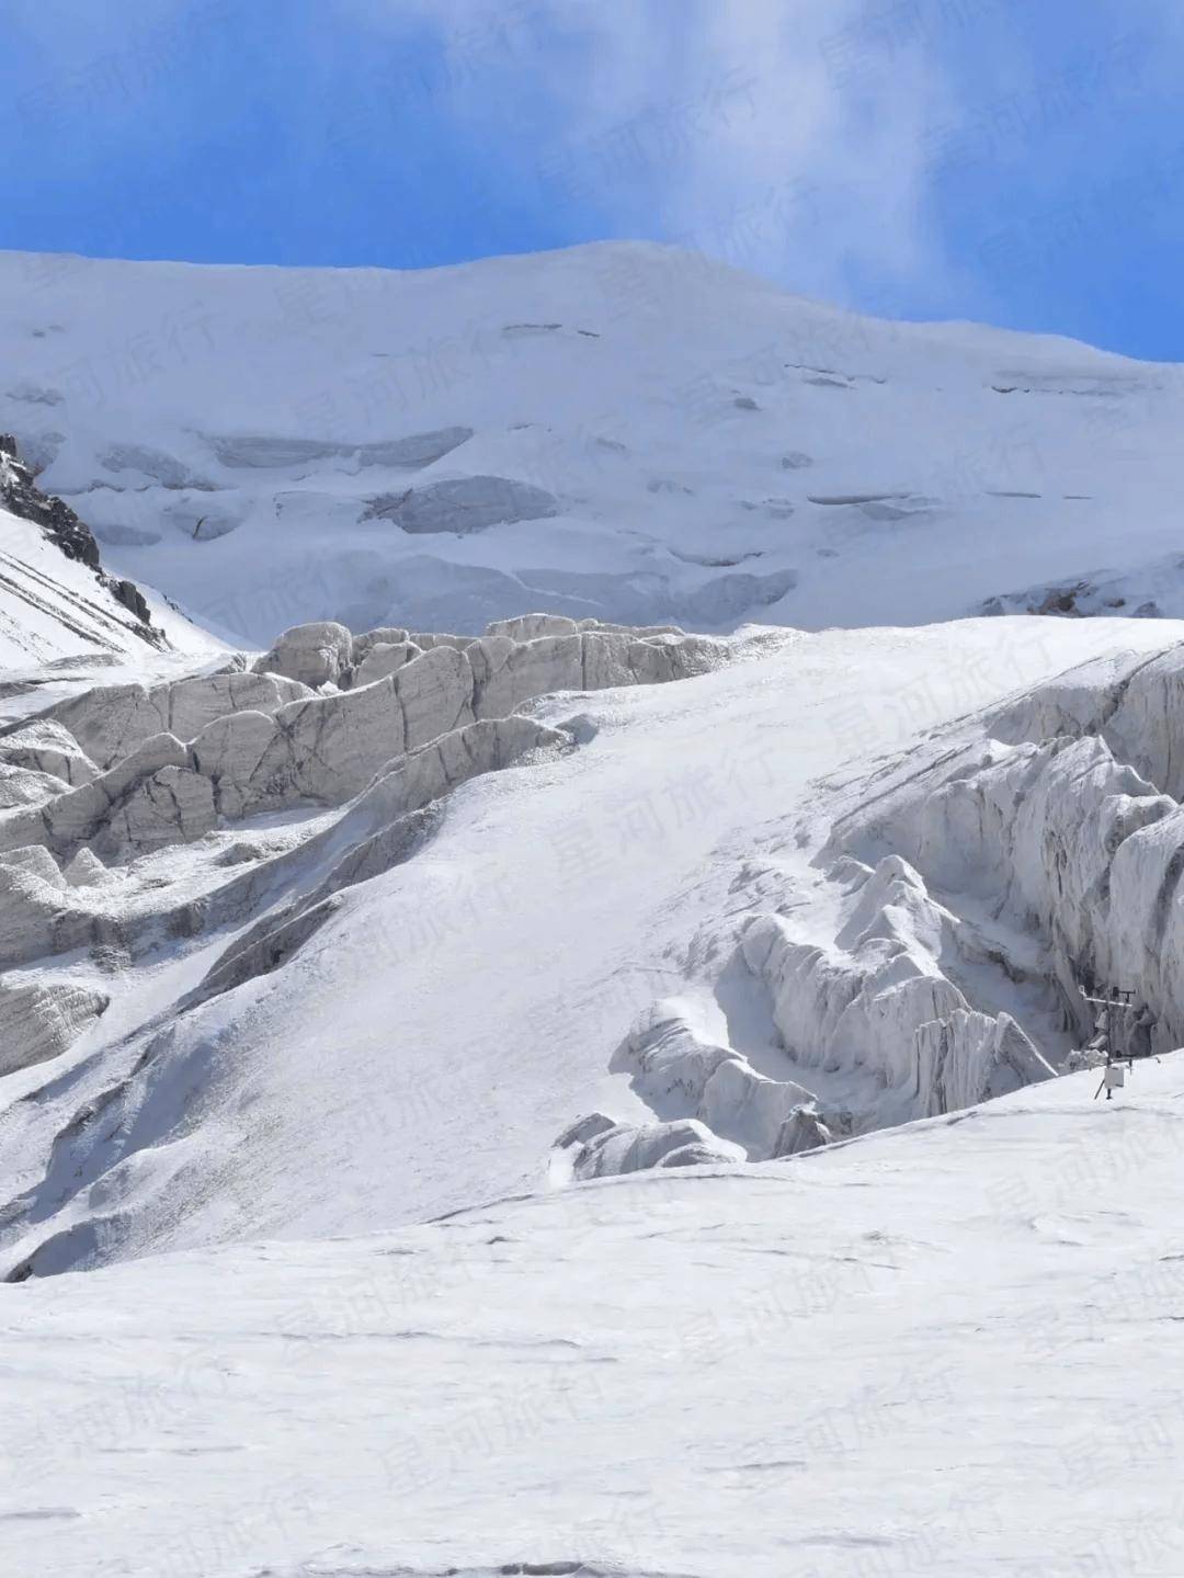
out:
M0 1572L1178 1578L1178 371L16 284Z

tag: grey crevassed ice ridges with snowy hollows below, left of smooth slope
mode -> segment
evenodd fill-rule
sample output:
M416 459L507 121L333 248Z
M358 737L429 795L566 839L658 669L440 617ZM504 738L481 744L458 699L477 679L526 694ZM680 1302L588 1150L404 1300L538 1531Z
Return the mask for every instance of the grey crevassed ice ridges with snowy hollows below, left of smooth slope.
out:
M527 702L686 679L730 650L541 614L479 638L318 623L252 667L95 686L0 732L0 1075L74 1045L134 966L222 931L186 1004L281 967L454 789L572 748Z

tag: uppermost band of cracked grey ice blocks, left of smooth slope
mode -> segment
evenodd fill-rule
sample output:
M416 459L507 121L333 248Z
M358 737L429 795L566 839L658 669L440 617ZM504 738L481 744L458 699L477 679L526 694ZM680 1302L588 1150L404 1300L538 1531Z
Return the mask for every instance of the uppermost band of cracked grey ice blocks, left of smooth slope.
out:
M0 851L44 844L69 862L87 847L120 865L227 821L342 805L396 757L538 696L686 679L725 650L681 631L545 615L481 638L300 626L259 674L96 686L0 737L0 764L25 802L0 813ZM393 671L370 677L383 663ZM47 791L58 776L60 792Z

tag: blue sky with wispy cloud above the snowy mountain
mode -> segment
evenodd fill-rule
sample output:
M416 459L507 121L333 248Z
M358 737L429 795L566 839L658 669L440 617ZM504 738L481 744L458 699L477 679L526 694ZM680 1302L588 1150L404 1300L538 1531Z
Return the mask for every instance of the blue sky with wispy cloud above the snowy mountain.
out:
M6 0L0 246L650 237L1184 360L1179 0Z

